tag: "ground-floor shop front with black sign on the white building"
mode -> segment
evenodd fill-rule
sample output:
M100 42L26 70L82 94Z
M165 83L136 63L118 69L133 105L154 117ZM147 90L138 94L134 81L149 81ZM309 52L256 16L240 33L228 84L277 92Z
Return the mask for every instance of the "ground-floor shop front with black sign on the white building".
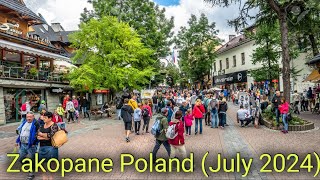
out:
M221 89L247 89L248 78L247 71L239 71L230 74L215 76L213 78L214 85L219 86Z

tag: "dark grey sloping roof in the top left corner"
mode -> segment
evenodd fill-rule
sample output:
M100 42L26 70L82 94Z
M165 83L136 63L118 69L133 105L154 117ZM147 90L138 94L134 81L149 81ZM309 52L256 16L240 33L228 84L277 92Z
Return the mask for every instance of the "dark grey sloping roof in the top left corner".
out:
M44 23L45 20L32 12L23 2L18 0L0 0L0 6L18 12L21 16L27 16L30 20L36 20L35 24Z

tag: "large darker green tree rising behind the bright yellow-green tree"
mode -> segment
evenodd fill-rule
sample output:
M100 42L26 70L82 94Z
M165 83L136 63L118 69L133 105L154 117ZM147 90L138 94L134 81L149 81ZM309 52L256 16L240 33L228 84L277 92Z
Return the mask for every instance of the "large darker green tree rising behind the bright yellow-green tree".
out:
M87 9L81 15L81 21L91 18L100 19L106 15L116 16L127 22L142 39L142 43L154 51L153 58L165 57L170 51L173 36L174 19L165 17L165 9L150 0L91 0L93 10ZM160 62L155 62L160 67Z

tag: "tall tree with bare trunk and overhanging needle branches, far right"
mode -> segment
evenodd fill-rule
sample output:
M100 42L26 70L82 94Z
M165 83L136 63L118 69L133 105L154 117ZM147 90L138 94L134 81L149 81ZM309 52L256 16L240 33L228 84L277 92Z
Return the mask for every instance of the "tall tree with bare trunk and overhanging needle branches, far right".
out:
M284 97L290 102L290 51L289 51L289 24L301 21L304 18L303 11L296 17L291 18L290 12L295 7L305 5L306 7L319 7L318 0L204 0L217 6L229 6L232 3L239 3L239 17L229 21L229 24L239 28L244 28L248 25L248 20L269 17L269 21L276 19L279 23L281 34L281 56L282 56L282 77ZM251 9L258 9L255 15L250 14ZM272 17L272 18L270 18ZM294 23L292 23L294 24Z

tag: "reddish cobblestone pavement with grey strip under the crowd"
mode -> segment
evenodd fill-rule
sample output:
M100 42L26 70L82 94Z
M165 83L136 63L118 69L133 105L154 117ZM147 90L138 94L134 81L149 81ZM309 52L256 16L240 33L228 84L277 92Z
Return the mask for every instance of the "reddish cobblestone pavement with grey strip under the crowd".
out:
M235 119L237 107L229 105L227 119L229 126L225 129L211 129L205 126L202 135L194 135L194 127L192 127L192 136L186 137L187 153L188 155L191 152L194 153L195 168L193 173L150 173L150 167L146 172L138 173L133 166L126 167L125 172L121 173L119 166L121 153L130 153L136 159L139 157L148 159L155 143L151 134L131 135L131 142L126 143L124 141L123 123L119 120L83 120L78 124L68 124L69 142L59 149L60 158L112 158L114 166L110 173L67 173L65 179L206 179L201 169L201 160L206 152L209 152L206 167L212 166L213 168L217 167L218 153L223 158L228 158L229 165L230 159L235 158L237 153L240 153L240 156L246 160L253 158L250 173L245 178L241 177L244 170L239 173L210 173L206 168L210 179L320 179L320 176L313 178L314 170L312 173L307 173L305 170L294 174L260 173L263 162L259 160L263 153L271 155L297 153L300 158L314 151L320 153L320 131L318 128L320 118L317 119L316 116L308 115L308 113L302 114L301 116L315 122L317 129L305 133L290 132L284 135L279 131L273 131L265 127L259 129L252 126L241 128ZM152 123L150 123L150 126L152 126ZM13 150L16 127L17 124L0 126L0 179L25 179L26 176L21 173L5 173L9 161L6 158L6 153ZM164 147L160 148L158 157L167 157ZM299 159L299 161L302 160ZM289 162L292 163L292 161L286 162L286 167L291 165ZM281 163L278 165L279 168L280 165ZM299 163L295 169L298 167ZM271 166L268 166L267 169L271 168ZM37 174L36 179L41 179L39 177L40 175ZM54 177L55 179L62 179L60 174L54 174Z

